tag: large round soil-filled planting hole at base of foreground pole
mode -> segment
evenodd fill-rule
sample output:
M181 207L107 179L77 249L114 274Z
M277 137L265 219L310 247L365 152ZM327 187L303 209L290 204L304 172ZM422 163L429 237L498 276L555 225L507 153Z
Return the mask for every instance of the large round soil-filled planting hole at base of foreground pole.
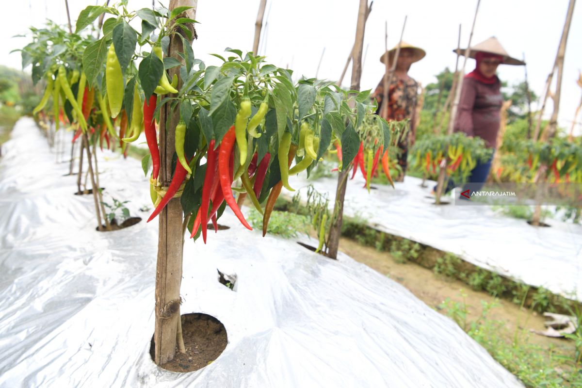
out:
M172 372L194 372L210 364L225 350L228 343L226 329L214 316L201 313L183 314L182 337L186 353L178 351L172 361L158 365ZM151 337L150 355L155 358L154 336Z

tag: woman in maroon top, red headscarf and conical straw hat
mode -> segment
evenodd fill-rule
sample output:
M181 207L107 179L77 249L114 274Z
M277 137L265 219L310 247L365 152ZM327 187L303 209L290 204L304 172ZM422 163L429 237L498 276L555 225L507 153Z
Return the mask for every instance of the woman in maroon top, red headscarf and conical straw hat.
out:
M464 49L453 51L460 55L464 55L465 52ZM510 57L495 37L471 47L469 57L474 58L477 64L475 70L463 79L455 131L464 132L469 137L481 137L485 145L493 148L495 152L503 104L501 81L495 75L497 66L526 63ZM485 163L477 163L471 170L468 181L471 183L471 190L481 190L489 175L492 159L493 156ZM446 191L452 190L453 187L455 183L449 180Z

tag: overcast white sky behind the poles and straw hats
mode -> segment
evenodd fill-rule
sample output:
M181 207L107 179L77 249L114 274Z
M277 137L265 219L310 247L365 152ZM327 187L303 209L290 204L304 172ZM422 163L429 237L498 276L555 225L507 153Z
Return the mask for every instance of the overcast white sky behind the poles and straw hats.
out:
M101 1L100 1L101 2ZM95 1L69 0L73 22L81 9L94 5ZM162 3L168 6L169 1ZM221 62L210 53L220 53L226 47L251 50L254 23L259 0L198 0L196 19L198 40L194 42L194 55L207 64ZM435 82L434 74L446 66L454 69L459 24L462 24L461 45L466 47L477 1L471 0L375 0L368 17L364 39L364 72L361 88L377 86L384 71L379 61L384 51L384 23L388 21L389 48L398 43L404 16L408 16L404 41L424 48L427 55L414 63L410 76L423 85ZM151 8L151 0L130 0L130 9ZM278 66L289 66L296 76L314 77L322 51L320 78L336 80L342 73L347 55L352 48L359 1L357 0L268 0L265 12L267 33L261 42L261 55ZM540 95L546 77L556 56L562 27L566 17L567 0L482 0L473 44L495 35L510 55L521 58L526 55L530 87ZM574 111L580 102L582 88L576 80L582 69L582 9L574 9L572 27L566 49L566 59L560 101L560 126L570 129ZM20 54L8 54L22 47L26 40L11 38L25 33L29 25L40 27L45 19L66 23L64 0L10 1L10 15L0 24L0 63L20 68ZM462 66L463 61L460 61ZM466 71L474 69L473 59L467 61ZM29 69L30 71L30 69ZM351 67L344 86L349 86ZM499 66L498 76L509 84L524 79L523 66ZM535 106L534 106L535 108ZM552 112L552 104L546 105L546 114ZM577 133L582 125L578 118Z

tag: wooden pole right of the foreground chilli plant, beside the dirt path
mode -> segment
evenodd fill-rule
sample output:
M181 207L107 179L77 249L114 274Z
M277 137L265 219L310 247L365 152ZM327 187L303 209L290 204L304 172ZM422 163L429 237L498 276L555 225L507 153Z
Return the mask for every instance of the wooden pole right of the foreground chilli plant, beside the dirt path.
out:
M367 16L370 14L370 6L368 0L360 0L360 7L358 10L358 21L356 25L356 40L353 47L353 66L352 66L352 85L351 90L360 90L361 79L361 60L362 51L364 48L364 33L365 22ZM338 176L338 187L336 190L335 206L333 208L333 217L331 228L329 229L329 237L327 241L327 256L332 259L338 258L339 237L342 234L343 223L343 201L346 197L347 176L350 172L350 163Z

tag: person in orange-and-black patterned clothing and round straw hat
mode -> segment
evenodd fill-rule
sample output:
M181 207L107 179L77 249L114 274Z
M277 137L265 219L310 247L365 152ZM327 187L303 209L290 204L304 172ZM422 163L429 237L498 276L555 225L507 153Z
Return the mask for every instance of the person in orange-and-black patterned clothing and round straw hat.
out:
M397 49L398 45L385 52L385 54L381 56L380 62L386 63L386 59L388 59L388 65L391 66ZM425 55L426 53L423 49L401 41L400 52L398 54L398 59L396 60L396 69L394 70L392 82L388 88L388 109L385 109L382 102L382 97L384 96L384 77L382 77L378 87L371 96L378 101L377 113L382 115L382 117L387 121L410 119L409 136L400 138L398 143L398 164L400 165L402 172L400 172L399 176L396 177L395 181L404 180L404 173L406 173L407 167L406 158L408 156L409 139L411 143L410 145L414 144L416 134L416 120L414 118L414 113L416 111L418 97L418 83L416 80L408 76L408 70L410 70L410 66L414 62L423 59Z

